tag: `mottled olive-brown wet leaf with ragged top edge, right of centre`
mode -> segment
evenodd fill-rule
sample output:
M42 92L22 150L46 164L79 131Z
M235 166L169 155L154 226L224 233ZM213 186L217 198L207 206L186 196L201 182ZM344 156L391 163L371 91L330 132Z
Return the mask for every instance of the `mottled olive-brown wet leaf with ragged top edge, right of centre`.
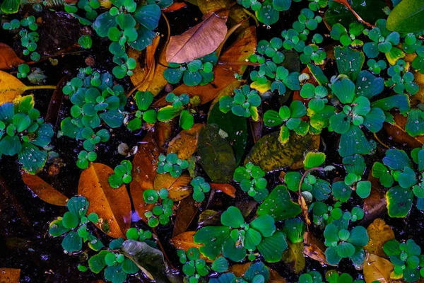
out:
M319 136L307 134L305 137L292 133L287 144L278 141L279 132L267 134L252 147L245 164L252 162L266 172L291 166L303 158L305 151L317 150Z

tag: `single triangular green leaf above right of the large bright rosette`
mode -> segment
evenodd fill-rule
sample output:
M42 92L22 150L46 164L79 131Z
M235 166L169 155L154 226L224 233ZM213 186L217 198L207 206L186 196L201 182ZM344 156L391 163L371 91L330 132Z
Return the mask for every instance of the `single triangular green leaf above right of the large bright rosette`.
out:
M269 214L275 221L294 218L302 212L300 205L293 202L285 185L276 186L264 202L259 205L257 215Z

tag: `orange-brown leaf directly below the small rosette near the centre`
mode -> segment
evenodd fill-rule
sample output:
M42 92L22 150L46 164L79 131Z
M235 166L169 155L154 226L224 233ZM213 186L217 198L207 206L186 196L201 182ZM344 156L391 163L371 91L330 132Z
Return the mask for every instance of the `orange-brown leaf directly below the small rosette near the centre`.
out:
M155 177L154 189L160 190L163 187L170 192L169 198L174 202L188 197L192 193L192 187L189 187L192 177L189 175L180 175L175 178L170 174L158 174Z

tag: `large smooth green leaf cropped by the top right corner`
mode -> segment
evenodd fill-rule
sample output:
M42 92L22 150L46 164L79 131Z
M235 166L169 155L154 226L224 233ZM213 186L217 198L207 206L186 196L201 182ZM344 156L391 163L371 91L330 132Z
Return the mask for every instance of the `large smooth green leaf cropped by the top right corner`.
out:
M424 3L420 0L403 0L394 7L387 18L387 29L399 33L423 30Z

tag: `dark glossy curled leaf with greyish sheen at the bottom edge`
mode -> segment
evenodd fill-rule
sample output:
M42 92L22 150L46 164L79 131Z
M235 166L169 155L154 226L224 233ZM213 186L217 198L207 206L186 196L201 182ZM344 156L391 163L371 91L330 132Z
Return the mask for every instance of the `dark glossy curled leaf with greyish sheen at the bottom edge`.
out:
M148 246L148 244L126 240L120 248L121 253L132 260L143 273L151 280L157 283L170 283L168 275L171 275L163 253Z

